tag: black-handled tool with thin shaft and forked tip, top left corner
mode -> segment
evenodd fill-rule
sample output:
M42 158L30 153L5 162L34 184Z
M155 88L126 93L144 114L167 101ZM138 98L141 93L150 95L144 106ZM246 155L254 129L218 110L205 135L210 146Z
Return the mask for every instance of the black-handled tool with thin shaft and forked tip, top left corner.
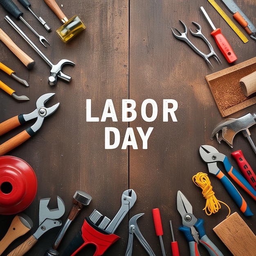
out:
M26 20L24 20L24 18L22 17L22 11L20 11L20 9L12 0L0 0L0 4L2 5L2 7L4 7L6 11L11 13L13 17L22 20L22 22L39 38L40 43L42 43L44 47L46 47L44 42L50 45L44 36L39 35L36 30L33 29L33 27L31 27L31 25L29 25Z

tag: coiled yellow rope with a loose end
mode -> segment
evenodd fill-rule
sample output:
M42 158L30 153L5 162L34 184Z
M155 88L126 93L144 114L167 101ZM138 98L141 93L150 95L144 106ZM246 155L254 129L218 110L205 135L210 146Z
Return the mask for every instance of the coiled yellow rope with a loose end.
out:
M218 200L214 195L215 193L213 191L213 187L211 186L211 182L207 173L197 173L193 176L192 180L196 186L199 186L202 189L202 195L206 199L206 204L203 210L208 216L212 213L218 212L218 210L221 208L220 203L227 206L227 208L229 209L228 216L230 215L229 206L225 202Z

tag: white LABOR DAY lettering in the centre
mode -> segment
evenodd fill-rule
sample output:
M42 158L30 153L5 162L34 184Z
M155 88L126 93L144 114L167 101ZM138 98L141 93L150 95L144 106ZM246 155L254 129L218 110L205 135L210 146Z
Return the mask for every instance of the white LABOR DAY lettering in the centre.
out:
M136 102L132 99L122 100L122 122L132 122L137 118ZM148 116L147 109L150 108L150 116ZM169 116L173 122L177 122L175 111L178 108L178 103L174 99L163 99L163 122L169 121ZM158 106L153 99L145 99L141 103L141 117L146 122L153 122L158 115ZM117 115L112 99L107 99L101 116L101 122L105 122L107 118L111 118L113 122L117 122ZM86 121L99 122L99 117L92 117L92 100L86 99ZM153 131L153 127L149 127L146 134L141 127L137 127L137 131L143 142L142 148L148 148L148 138ZM110 132L114 135L114 142L110 143ZM112 140L113 141L113 140ZM120 144L120 132L115 127L105 128L105 149L117 148ZM137 141L133 128L128 127L124 136L124 141L121 149L126 149L127 146L132 146L133 149L138 149Z

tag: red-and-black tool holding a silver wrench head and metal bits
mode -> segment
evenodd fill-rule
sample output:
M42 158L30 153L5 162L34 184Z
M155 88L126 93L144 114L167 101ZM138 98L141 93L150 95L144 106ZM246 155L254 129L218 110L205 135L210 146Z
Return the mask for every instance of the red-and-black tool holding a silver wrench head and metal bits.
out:
M121 208L111 222L109 218L103 217L99 211L94 209L91 215L85 218L81 230L67 246L63 256L74 256L89 244L96 247L94 256L103 255L106 249L120 238L114 232L135 204L136 199L137 196L133 189L124 191L121 197Z

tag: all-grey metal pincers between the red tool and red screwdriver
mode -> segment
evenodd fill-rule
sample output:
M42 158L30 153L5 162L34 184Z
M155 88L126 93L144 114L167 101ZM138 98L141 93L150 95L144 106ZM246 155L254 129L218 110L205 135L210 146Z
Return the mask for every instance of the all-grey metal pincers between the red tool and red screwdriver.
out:
M137 225L137 219L139 217L141 217L142 215L144 215L144 213L139 213L139 214L133 216L132 218L130 218L130 221L129 221L129 240L128 240L128 246L127 246L127 249L126 249L125 256L131 256L132 255L133 234L135 234L135 236L138 238L139 242L144 247L146 252L150 256L155 256L155 253L151 249L150 245L148 244L148 242L146 241L144 236L142 236L141 231L139 230L139 227Z

